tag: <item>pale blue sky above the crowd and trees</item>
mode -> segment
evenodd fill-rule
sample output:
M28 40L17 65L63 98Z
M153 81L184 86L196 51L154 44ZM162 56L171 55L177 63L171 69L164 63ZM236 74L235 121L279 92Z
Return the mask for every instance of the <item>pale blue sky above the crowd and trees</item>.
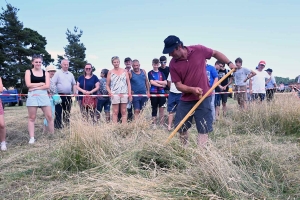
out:
M86 60L97 76L113 68L113 56L120 57L121 66L131 57L151 70L169 35L186 46L218 50L233 62L241 57L249 69L264 60L275 76L300 74L299 0L0 0L0 6L6 2L20 9L24 27L46 37L46 50L55 60L68 44L67 29L82 30Z

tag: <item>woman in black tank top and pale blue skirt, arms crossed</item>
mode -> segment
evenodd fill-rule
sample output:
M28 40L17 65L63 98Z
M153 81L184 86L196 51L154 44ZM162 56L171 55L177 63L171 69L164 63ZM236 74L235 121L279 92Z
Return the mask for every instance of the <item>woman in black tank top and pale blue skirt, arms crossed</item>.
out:
M28 109L28 132L30 136L29 144L34 144L34 124L37 109L40 107L48 121L49 132L54 133L54 122L51 112L51 102L48 96L50 87L50 76L42 68L43 57L41 55L32 56L32 69L25 72L25 83L28 88L28 98L26 106Z

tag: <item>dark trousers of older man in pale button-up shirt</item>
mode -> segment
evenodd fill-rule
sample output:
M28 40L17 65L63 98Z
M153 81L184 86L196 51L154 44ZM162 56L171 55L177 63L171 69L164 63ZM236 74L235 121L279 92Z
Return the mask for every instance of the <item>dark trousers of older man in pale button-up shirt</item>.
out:
M55 105L55 120L54 127L57 129L61 129L63 127L63 123L70 123L70 112L72 99L71 97L61 96L61 104Z

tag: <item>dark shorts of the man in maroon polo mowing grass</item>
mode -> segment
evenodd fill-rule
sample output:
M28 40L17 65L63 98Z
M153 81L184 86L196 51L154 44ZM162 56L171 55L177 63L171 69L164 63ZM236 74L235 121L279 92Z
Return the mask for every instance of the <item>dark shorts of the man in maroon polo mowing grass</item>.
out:
M177 126L181 120L187 115L192 107L198 101L179 101L175 116L175 125ZM198 133L207 134L213 131L213 116L211 114L211 97L207 97L198 106L194 114L179 129L179 133L186 132L192 126L192 119L195 118Z

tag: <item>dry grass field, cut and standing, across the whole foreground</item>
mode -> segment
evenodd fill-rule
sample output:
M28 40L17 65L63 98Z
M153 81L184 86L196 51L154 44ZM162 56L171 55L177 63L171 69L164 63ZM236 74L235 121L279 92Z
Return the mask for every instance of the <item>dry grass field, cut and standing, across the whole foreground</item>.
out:
M215 123L207 149L196 129L183 147L153 129L149 110L126 126L81 120L42 133L28 144L26 107L6 107L8 151L0 152L0 199L300 199L300 100L278 94L272 103Z

